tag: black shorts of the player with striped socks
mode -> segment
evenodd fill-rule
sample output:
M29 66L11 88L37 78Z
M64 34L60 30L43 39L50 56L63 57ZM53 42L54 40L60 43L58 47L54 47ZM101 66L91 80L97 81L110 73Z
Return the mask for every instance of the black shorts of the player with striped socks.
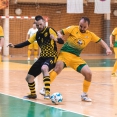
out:
M40 57L29 69L28 74L33 75L34 77L41 74L41 67L43 65L47 65L49 67L49 71L55 67L55 58L54 57L47 57L43 58Z

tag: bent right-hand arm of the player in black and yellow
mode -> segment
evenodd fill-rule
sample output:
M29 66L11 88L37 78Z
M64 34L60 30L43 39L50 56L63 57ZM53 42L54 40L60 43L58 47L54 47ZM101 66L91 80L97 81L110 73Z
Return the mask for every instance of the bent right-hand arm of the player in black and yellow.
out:
M58 37L57 33L52 29L50 29L50 38L59 44L64 44L64 40L62 38Z

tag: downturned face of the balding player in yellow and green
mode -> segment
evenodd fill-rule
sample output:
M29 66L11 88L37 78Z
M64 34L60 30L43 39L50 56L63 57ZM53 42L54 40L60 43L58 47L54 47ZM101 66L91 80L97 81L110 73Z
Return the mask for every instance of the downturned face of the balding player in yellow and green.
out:
M88 29L89 25L87 21L84 21L84 19L81 19L79 22L79 30L81 33L85 33Z

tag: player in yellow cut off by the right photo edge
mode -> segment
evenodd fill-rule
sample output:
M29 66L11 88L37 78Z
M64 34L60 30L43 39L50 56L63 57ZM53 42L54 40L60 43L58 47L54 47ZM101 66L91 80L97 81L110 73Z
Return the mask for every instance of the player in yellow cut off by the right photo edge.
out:
M113 44L113 40L114 40L114 44ZM114 28L114 30L112 31L111 35L110 35L110 47L112 47L114 49L114 53L115 53L115 63L113 66L113 70L112 70L112 77L116 77L116 71L117 71L117 27Z

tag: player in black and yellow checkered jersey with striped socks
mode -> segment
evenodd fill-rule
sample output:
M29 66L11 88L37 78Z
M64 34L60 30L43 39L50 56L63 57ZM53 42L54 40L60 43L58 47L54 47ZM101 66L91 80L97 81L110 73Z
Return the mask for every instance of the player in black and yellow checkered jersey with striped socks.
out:
M35 20L38 29L37 33L33 34L27 41L23 43L17 45L10 43L8 46L21 48L33 43L34 41L37 41L39 47L41 48L41 53L39 59L32 65L27 74L26 81L28 82L31 94L24 96L24 98L37 98L34 79L42 72L45 85L44 98L50 99L49 71L54 68L57 60L56 42L63 44L64 41L60 38L57 38L57 33L54 29L46 27L45 20L42 16L36 16Z

